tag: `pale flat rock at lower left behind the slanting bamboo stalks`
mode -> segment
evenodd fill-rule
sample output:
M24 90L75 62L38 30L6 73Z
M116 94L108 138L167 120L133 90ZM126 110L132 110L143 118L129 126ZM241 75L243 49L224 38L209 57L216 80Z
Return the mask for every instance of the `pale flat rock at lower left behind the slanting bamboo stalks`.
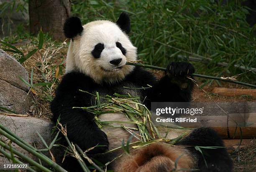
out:
M44 143L40 140L37 132L44 138L47 145L50 145L55 135L51 136L53 123L49 120L43 120L34 117L13 117L0 115L0 123L7 127L11 132L18 135L21 139L28 142L30 145L35 145L37 149L45 149ZM12 146L22 152L24 155L32 158L38 162L38 158L34 157L31 153L23 150L21 147L12 143ZM53 147L51 152L54 155L56 162L61 162L62 154L59 153L59 147ZM49 152L45 152L45 155L51 159ZM8 160L5 157L0 156L0 167Z

